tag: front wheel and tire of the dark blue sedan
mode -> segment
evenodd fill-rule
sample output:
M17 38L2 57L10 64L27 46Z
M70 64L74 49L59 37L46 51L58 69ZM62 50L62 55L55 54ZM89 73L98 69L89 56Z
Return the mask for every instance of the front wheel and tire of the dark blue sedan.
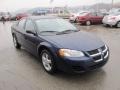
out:
M43 49L40 58L44 70L49 74L54 74L56 72L56 65L53 55L48 50Z

